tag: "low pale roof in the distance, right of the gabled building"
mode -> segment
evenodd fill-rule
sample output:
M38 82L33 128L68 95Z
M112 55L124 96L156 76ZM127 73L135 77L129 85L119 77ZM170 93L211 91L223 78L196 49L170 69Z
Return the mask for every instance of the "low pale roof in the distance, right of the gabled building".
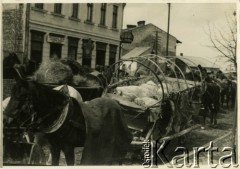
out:
M220 68L219 65L214 62L204 58L204 57L193 57L193 56L180 56L179 59L183 60L189 66L196 67L197 65L201 65L205 68Z

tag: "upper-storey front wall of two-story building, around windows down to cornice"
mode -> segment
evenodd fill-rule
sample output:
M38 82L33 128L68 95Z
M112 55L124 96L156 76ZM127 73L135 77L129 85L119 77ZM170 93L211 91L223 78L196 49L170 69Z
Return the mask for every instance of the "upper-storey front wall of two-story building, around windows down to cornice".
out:
M87 4L79 4L79 20L72 20L69 17L72 15L72 4L62 4L62 16L53 15L54 4L44 4L44 10L39 11L31 4L31 23L38 25L57 26L58 28L70 29L72 31L80 31L84 34L95 35L119 41L120 31L122 28L123 5L118 5L118 24L117 29L112 28L112 9L113 4L107 4L106 27L100 26L100 8L101 4L93 5L93 21L87 23Z

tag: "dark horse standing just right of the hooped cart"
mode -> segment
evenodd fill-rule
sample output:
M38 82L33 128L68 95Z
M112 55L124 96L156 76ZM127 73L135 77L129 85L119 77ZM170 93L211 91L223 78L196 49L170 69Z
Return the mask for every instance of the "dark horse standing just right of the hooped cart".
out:
M220 108L220 86L216 83L202 82L201 102L204 107L203 125L205 125L207 113L210 111L210 125L217 125L217 113Z

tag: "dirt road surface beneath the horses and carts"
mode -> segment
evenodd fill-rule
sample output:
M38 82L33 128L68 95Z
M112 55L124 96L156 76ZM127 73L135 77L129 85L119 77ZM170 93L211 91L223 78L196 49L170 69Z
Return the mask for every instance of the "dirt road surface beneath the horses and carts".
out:
M223 113L224 112L224 113ZM233 110L224 110L218 114L218 125L216 128L206 127L205 130L200 128L195 129L191 133L187 134L183 138L171 140L170 144L166 148L166 156L169 160L171 160L174 156L179 155L175 152L176 147L182 146L186 147L189 151L189 159L190 163L193 163L193 149L194 147L201 147L205 146L205 148L209 147L210 141L213 142L213 146L218 148L218 152L214 152L213 154L213 163L219 164L219 159L229 152L222 152L224 147L231 147L232 146L232 124L233 124ZM220 139L219 139L220 138ZM180 142L182 140L184 142ZM75 148L75 165L79 165L81 161L81 154L83 148ZM45 149L46 157L49 156L49 150ZM181 154L181 153L180 153ZM140 155L139 155L140 156ZM141 154L143 157L143 154ZM208 164L208 153L201 152L199 153L199 165L207 165ZM16 164L13 161L7 161L8 163ZM181 161L179 162L181 163ZM50 165L50 163L48 163ZM60 157L60 165L66 165L65 157L61 153ZM142 165L141 159L137 162L131 161L131 159L124 163L124 165Z

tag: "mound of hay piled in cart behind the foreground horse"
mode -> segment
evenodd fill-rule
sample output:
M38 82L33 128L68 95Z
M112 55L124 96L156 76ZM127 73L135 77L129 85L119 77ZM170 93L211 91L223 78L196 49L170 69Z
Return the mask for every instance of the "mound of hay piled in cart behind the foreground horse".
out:
M88 70L84 66L73 66L76 61L47 60L41 63L34 73L33 79L38 83L69 84L81 87L100 87L101 81L95 76L94 70Z

